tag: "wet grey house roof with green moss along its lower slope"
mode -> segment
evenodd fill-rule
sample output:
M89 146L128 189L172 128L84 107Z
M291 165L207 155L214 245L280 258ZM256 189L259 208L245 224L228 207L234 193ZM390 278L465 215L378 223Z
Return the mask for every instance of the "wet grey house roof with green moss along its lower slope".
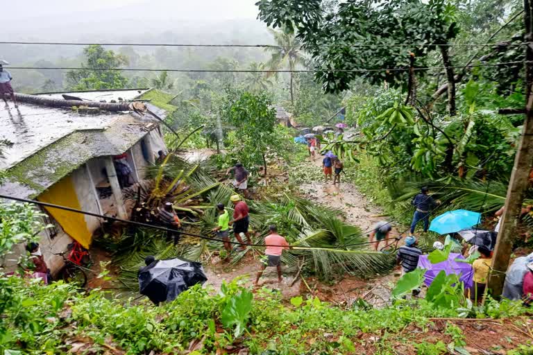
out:
M164 119L164 110L147 106ZM88 114L27 103L1 109L0 139L12 145L1 147L0 169L8 171L8 182L0 191L36 196L92 157L124 153L146 135L148 123L159 121L149 114Z

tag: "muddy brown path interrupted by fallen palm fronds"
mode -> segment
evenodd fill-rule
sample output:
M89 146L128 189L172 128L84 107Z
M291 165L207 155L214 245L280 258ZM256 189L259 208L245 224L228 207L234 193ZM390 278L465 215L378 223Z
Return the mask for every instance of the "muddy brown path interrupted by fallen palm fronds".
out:
M321 170L322 158L316 157L314 161L310 159L308 164ZM344 211L346 221L357 225L366 234L374 223L386 219L382 216L382 211L359 193L354 184L341 182L339 186L320 180L301 184L299 188L305 198ZM396 230L392 233L395 235ZM258 268L260 268L259 254L253 251L248 251L246 257L235 264L213 257L210 263L205 263L205 272L209 279L206 284L219 290L222 282L230 282L235 277L241 277L245 286L253 286ZM276 269L267 268L259 286L280 292L285 300L297 295L312 295L338 306L350 306L359 298L376 307L386 306L390 302L391 290L400 277L399 270L394 270L371 279L346 275L328 284L314 277L304 277L305 282L303 282L302 277L298 277L293 284L296 268L290 269L285 266L282 268L284 277L281 284L278 284Z

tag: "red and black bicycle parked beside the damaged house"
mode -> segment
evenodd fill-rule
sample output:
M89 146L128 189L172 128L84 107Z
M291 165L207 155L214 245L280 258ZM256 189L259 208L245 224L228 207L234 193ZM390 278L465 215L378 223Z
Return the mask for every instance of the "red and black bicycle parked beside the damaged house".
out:
M69 255L65 257L67 253ZM69 283L76 282L82 288L85 287L87 284L87 273L84 269L90 263L89 252L80 243L75 241L74 243L70 243L64 252L52 254L62 257L65 263L65 267L61 272L62 279Z

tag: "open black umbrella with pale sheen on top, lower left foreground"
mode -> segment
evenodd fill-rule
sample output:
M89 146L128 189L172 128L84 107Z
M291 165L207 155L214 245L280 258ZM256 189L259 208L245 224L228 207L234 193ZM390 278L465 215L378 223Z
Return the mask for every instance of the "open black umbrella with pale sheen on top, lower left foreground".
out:
M139 270L139 292L155 304L172 301L187 288L206 281L201 263L178 258L157 260Z

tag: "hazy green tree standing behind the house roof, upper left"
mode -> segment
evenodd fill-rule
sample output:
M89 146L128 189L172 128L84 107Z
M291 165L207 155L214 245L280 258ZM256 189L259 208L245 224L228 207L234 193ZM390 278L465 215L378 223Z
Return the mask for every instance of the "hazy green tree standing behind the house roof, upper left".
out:
M85 69L67 71L69 89L124 89L128 79L119 71L113 70L128 64L124 55L106 50L94 44L83 49L85 61L81 67Z

